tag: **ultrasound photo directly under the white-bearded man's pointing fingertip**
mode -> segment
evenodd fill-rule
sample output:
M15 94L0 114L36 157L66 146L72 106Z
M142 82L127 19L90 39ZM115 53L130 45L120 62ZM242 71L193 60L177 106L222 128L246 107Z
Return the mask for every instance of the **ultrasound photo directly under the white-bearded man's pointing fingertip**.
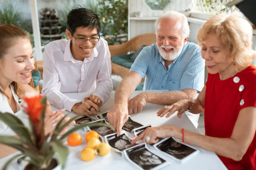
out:
M114 133L113 135L110 135L110 136L106 136L106 142L109 143L109 145L112 147L112 148L115 148L119 151L123 151L127 148L130 148L136 144L131 144L131 139L128 138L125 133L117 136L116 133Z

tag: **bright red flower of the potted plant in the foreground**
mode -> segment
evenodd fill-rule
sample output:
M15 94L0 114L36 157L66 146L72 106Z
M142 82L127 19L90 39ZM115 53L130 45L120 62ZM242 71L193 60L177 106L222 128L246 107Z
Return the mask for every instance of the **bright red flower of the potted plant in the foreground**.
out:
M40 126L40 117L41 113L45 107L44 104L41 104L43 95L35 95L33 97L24 96L23 100L27 103L27 107L22 106L26 113L28 114L30 120L37 126Z

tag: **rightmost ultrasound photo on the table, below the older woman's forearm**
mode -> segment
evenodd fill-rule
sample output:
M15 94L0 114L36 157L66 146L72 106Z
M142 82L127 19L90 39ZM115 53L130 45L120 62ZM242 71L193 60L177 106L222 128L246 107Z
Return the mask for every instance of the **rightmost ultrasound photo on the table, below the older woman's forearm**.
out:
M176 142L173 138L168 138L160 144L156 145L159 150L172 155L173 157L182 160L188 155L192 154L196 150L184 145L182 143Z

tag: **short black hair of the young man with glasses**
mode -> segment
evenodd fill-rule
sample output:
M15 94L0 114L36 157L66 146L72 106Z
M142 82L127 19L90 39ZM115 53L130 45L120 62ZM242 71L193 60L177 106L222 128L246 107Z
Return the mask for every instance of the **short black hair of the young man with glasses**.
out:
M78 27L89 27L100 32L100 21L98 15L86 8L75 8L67 15L67 29L74 33Z

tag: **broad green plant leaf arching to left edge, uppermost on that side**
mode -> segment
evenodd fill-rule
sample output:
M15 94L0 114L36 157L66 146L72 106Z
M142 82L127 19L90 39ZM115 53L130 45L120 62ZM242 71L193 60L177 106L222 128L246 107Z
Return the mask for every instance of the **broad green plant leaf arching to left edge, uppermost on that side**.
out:
M25 144L33 144L28 128L16 116L11 113L0 112L0 120L9 126Z

